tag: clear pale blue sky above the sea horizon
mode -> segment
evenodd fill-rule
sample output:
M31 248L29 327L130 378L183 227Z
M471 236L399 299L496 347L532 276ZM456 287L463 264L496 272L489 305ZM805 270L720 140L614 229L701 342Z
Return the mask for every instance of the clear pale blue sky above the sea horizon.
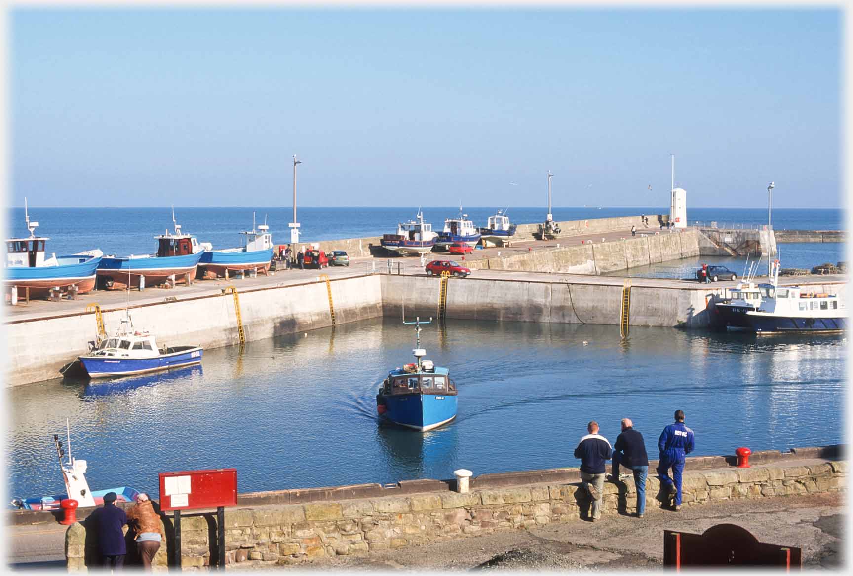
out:
M293 153L300 205L664 206L670 153L696 207L843 204L837 9L9 24L15 205L291 205Z

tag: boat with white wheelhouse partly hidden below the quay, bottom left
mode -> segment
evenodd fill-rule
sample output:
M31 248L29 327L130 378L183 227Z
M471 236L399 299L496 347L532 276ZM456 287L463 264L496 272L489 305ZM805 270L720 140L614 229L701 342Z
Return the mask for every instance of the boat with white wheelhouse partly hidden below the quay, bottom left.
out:
M133 502L139 491L136 488L119 486L106 488L104 490L90 490L86 481L86 470L88 464L85 460L72 458L71 455L71 431L66 422L67 446L62 446L59 435L54 435L53 441L56 449L56 457L59 459L62 470L62 480L65 481L65 494L53 494L51 496L38 496L32 498L14 498L12 505L23 510L61 510L60 503L65 498L77 500L80 508L87 508L103 504L107 492L115 492L116 502ZM65 450L68 450L67 461Z

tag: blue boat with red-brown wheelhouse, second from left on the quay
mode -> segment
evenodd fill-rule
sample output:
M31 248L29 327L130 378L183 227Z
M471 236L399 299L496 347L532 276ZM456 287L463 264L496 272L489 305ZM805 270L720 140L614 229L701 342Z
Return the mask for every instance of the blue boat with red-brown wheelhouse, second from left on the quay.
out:
M104 256L98 265L97 275L106 288L114 282L129 282L133 286L157 285L166 279L174 278L176 282L186 279L187 274L192 278L201 256L206 249L212 248L209 243L200 244L198 239L181 232L181 226L175 222L172 210L171 221L175 233L154 236L157 240L155 254L141 256Z

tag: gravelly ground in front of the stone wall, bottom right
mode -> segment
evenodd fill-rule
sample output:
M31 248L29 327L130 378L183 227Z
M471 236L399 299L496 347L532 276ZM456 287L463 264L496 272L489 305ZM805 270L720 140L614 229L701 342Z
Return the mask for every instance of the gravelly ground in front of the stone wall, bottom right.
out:
M720 523L745 527L761 542L799 546L804 567L838 570L845 563L848 514L838 493L732 500L647 510L645 518L554 523L438 544L335 556L275 569L299 571L659 571L664 529L703 533Z

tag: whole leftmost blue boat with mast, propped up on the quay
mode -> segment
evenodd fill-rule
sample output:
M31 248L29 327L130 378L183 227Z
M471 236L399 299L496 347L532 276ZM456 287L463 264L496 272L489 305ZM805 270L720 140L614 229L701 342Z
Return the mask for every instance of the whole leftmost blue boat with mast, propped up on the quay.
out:
M7 288L18 287L18 297L44 297L54 288L64 289L77 286L79 294L95 287L96 269L102 260L102 252L92 250L70 256L45 255L49 238L36 236L38 222L30 222L30 212L24 199L24 217L28 238L6 240L6 261L3 262L3 283Z

